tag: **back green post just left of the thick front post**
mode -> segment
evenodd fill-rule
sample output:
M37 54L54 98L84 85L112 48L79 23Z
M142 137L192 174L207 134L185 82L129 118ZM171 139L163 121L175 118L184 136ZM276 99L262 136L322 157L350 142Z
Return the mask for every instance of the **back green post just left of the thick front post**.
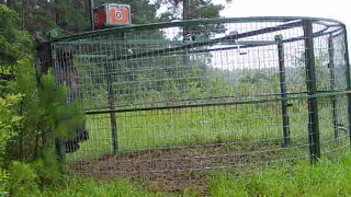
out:
M276 35L275 42L278 42L278 57L279 57L279 79L281 85L281 95L282 95L282 118L283 118L283 137L284 142L283 147L290 144L290 118L287 114L287 88L285 81L285 65L284 65L284 46L283 46L283 36Z

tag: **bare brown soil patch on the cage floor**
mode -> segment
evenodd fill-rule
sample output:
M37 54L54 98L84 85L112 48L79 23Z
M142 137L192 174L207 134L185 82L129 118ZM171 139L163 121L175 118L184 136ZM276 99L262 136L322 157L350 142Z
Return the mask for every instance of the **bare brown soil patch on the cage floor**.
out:
M100 181L128 178L157 192L194 188L207 196L214 170L230 169L240 174L244 169L282 159L284 150L280 143L233 143L139 151L75 162L70 172Z

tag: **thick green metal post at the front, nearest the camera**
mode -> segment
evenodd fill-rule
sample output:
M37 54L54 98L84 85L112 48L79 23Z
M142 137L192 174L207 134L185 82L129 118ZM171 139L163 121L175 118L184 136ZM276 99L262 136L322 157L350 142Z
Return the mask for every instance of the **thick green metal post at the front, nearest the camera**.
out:
M306 66L306 84L307 94L315 95L317 93L316 66L314 51L314 32L313 21L303 21L305 37L305 66ZM308 142L310 162L316 163L320 159L319 142L319 123L318 123L318 102L317 97L310 97L308 102Z

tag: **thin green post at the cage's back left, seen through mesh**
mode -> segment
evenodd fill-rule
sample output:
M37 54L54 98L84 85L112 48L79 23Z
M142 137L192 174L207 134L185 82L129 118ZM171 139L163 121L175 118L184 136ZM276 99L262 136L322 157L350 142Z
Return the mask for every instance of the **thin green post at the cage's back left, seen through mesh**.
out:
M111 73L107 63L105 63L106 79L107 79L107 89L109 89L109 103L110 103L110 119L111 119L111 134L112 134L112 143L113 143L113 153L118 154L118 131L117 131L117 120L115 109L115 96L113 91L113 84L111 79Z

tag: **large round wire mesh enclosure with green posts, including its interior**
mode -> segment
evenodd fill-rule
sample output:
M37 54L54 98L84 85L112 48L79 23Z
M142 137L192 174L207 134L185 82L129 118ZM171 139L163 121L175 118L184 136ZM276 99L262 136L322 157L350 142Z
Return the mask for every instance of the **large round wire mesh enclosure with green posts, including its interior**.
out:
M248 18L126 26L53 42L58 83L89 140L70 171L193 181L206 171L312 161L349 147L344 26Z

